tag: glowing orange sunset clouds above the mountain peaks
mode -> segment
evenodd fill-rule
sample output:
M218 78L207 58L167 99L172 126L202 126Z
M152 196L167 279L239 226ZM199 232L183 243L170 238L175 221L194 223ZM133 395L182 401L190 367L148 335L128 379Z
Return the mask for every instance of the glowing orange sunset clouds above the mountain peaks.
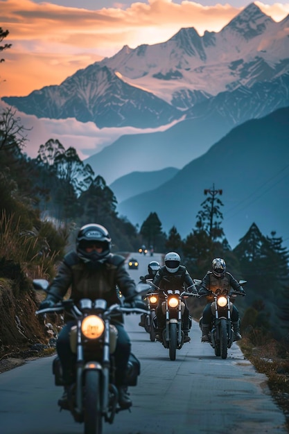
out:
M179 28L195 27L200 35L220 31L242 8L226 4L202 6L193 1L135 2L128 8L100 10L68 8L30 0L1 1L1 26L12 43L0 66L2 96L26 95L44 85L59 85L67 76L110 57L127 44L156 44ZM289 13L289 4L256 4L276 21ZM1 81L2 80L2 81ZM5 81L3 81L5 80Z

